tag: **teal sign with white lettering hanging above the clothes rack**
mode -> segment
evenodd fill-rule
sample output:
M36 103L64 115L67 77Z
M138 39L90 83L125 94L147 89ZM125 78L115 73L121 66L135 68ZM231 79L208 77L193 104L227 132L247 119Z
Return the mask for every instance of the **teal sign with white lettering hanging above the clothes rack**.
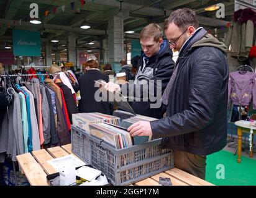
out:
M15 56L41 56L40 32L14 29L12 43Z

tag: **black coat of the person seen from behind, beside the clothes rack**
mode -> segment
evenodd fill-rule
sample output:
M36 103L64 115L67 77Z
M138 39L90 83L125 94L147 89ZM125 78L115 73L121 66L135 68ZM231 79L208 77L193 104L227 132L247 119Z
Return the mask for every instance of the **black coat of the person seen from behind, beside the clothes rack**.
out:
M78 105L79 112L112 114L113 106L110 103L107 101L98 102L95 100L94 94L99 88L94 87L94 80L104 80L105 82L109 82L109 77L94 69L89 70L80 76L78 79L81 94L81 100Z

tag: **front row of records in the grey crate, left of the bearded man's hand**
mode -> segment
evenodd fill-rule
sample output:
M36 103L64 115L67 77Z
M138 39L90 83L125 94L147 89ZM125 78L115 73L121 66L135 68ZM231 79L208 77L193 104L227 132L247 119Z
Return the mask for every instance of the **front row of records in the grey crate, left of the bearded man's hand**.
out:
M89 124L89 128L91 136L106 141L116 149L124 149L133 145L130 133L118 127L111 126L107 123L93 123Z

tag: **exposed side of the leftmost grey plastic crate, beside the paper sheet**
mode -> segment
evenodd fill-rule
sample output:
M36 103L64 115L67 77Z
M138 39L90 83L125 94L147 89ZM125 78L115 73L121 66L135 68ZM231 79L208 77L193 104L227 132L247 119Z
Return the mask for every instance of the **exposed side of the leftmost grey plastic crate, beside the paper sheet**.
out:
M91 152L89 143L89 134L71 126L71 150L75 155L78 155L85 163L91 163Z

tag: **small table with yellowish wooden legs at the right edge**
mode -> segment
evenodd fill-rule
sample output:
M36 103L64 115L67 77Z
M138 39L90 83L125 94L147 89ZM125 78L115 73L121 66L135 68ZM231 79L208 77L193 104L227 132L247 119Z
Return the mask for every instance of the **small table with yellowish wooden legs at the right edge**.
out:
M241 152L242 152L242 133L250 133L250 129L253 130L253 132L256 132L256 127L250 126L249 121L236 121L235 126L237 126L237 136L238 136L238 145L237 145L237 162L241 163ZM249 157L252 158L254 157L254 134L252 134L252 150L250 150Z

